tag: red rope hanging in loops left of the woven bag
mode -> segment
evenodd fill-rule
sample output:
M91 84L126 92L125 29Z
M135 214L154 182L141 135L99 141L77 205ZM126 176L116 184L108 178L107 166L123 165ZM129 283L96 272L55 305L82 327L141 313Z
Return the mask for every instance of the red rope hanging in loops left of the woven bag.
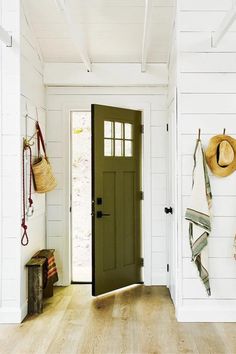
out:
M26 156L26 152L27 150L29 150L30 152L30 180L29 180L29 198L28 198L28 202L29 202L29 208L32 208L33 205L33 200L32 200L32 150L31 150L31 146L24 141L23 143L23 154L22 154L22 187L23 187L23 193L22 193L22 197L23 197L23 217L22 217L22 221L21 221L21 227L23 228L23 235L21 237L21 244L22 246L27 246L29 243L29 237L28 237L28 233L27 233L27 225L26 225L26 205L25 205L25 197L26 197L26 188L25 188L25 156Z

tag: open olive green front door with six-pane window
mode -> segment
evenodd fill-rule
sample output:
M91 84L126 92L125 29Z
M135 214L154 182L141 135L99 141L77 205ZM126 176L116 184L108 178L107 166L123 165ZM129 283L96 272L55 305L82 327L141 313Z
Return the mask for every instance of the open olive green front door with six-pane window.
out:
M141 281L141 112L92 105L92 294Z

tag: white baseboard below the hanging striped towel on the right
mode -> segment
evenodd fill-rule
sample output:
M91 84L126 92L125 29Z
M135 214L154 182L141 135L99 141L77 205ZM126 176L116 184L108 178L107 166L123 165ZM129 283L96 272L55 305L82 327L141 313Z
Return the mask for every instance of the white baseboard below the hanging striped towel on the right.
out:
M236 322L236 309L182 307L176 309L176 318L178 322Z

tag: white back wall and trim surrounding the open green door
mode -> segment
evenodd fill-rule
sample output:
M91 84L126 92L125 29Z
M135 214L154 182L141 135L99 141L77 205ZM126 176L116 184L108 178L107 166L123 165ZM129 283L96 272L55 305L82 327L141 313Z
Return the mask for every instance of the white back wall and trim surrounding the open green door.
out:
M69 163L65 154L69 141L65 136L65 124L69 124L68 109L90 110L92 103L137 107L150 105L151 108L151 188L152 205L152 284L166 284L166 223L163 212L166 203L167 173L167 90L160 88L76 88L49 87L47 90L47 144L50 161L58 179L57 189L47 198L47 243L48 247L57 251L60 284L66 284L68 277L68 237L69 228L66 216L68 210L65 203L69 196L65 195L68 180L65 169ZM56 127L56 128L55 128ZM64 271L64 273L63 273Z

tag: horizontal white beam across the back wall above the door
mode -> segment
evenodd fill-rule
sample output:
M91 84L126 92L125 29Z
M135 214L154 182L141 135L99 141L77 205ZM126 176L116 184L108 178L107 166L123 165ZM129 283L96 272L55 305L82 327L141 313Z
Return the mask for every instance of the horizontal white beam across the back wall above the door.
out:
M83 63L45 63L44 84L80 87L148 87L168 85L166 64L149 64L142 73L140 64L93 64L89 75Z

